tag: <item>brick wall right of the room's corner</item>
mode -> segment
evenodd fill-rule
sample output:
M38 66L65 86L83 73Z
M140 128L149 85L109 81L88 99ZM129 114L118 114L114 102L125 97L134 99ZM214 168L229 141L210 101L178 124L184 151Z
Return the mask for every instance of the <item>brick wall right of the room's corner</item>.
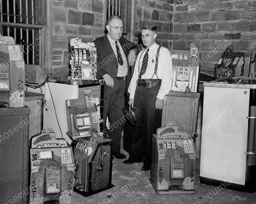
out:
M191 41L201 51L201 73L214 75L214 64L229 45L252 53L256 45L256 1L175 0L173 49L188 49Z

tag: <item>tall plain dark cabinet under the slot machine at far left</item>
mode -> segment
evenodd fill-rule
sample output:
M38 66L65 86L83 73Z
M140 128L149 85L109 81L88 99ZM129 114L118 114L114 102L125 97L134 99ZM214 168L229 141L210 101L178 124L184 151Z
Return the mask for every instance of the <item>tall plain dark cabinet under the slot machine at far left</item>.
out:
M0 108L0 124L0 203L27 204L29 108Z

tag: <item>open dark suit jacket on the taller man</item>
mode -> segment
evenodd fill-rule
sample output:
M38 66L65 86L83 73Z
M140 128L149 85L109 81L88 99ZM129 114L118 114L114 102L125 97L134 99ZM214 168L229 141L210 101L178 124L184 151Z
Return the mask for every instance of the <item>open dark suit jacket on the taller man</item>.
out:
M128 54L131 49L134 49L134 48L137 49L138 46L134 43L131 43L129 40L127 40L124 37L121 37L119 39L119 43L124 50L124 54L125 54L127 65L128 65L128 72L126 77L126 92L128 92L127 89L131 81L131 72L129 71L130 65L128 62ZM109 74L110 77L112 78L116 77L117 71L118 71L118 62L114 54L114 50L110 45L107 35L95 39L94 44L97 48L97 56L98 56L97 58L98 79L102 79L102 76L105 74ZM111 88L108 86L104 86L104 98L107 98L110 92L111 92Z

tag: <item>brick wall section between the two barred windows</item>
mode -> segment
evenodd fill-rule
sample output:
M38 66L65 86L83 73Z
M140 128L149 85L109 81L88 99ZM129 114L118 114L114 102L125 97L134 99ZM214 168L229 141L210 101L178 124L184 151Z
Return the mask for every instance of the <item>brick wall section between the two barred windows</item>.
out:
M70 39L91 42L104 35L103 0L52 1L52 72L51 79L69 76Z

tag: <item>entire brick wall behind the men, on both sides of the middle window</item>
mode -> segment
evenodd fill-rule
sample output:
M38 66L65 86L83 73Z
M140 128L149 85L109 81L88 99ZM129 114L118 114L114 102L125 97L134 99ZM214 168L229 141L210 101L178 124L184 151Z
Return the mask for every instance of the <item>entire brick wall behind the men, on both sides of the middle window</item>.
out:
M104 0L53 0L52 69L54 78L69 75L70 39L92 41L104 35ZM201 72L214 75L214 64L227 46L252 53L256 45L256 0L137 0L135 36L155 24L157 43L169 49L201 51Z

